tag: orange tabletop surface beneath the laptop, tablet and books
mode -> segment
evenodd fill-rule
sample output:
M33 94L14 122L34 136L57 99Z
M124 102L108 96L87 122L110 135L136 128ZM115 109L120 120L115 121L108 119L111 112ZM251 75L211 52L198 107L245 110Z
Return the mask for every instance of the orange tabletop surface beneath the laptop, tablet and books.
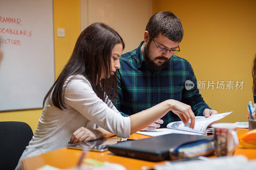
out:
M247 132L248 129L237 129L238 136L242 135L244 132ZM143 139L148 136L140 134L132 134L129 139ZM47 152L42 155L38 155L32 158L24 159L21 162L21 167L23 170L33 170L44 165L51 165L58 168L70 168L76 166L82 151L75 149L61 148L52 152ZM234 155L243 154L248 159L256 159L256 149L244 149L239 146L236 149ZM161 162L149 162L139 159L126 158L122 156L117 156L112 154L109 151L106 152L88 152L85 158L91 158L99 160L101 162L111 162L119 163L126 167L127 170L136 170L141 169L141 166L154 166L157 164L163 164L165 161Z

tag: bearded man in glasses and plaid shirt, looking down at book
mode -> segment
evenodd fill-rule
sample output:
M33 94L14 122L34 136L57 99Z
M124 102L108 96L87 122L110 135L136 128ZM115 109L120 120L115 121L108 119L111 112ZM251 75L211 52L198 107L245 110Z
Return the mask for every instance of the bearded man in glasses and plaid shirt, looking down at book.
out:
M175 55L180 51L182 38L180 19L169 11L157 12L148 21L144 41L120 57L115 106L123 116L138 113L167 99L190 105L196 116L218 114L199 94L191 65ZM195 86L186 88L186 80ZM180 118L170 111L144 130L166 128L173 121L180 121Z

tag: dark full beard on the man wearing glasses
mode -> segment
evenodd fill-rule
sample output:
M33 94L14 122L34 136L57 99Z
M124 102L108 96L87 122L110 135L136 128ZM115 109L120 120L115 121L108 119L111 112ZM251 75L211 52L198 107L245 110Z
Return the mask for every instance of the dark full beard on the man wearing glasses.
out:
M150 43L147 43L144 46L143 56L144 56L144 59L145 59L145 65L147 66L148 70L150 70L151 72L157 72L157 71L163 70L168 65L170 59L167 59L164 56L159 56L159 57L156 57L154 60L152 60L152 55L149 52L149 45L150 45ZM154 61L156 61L158 59L164 60L164 62L159 61L159 63L162 63L162 64L157 65L156 63L154 63Z

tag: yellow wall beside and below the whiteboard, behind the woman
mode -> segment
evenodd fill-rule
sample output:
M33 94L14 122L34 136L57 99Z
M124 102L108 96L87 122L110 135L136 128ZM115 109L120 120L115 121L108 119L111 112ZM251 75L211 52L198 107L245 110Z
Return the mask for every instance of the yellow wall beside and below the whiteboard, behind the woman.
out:
M55 78L67 63L80 34L80 1L53 0ZM66 36L57 37L57 28L65 28ZM43 100L43 99L42 99ZM42 109L0 112L0 121L26 122L36 130Z

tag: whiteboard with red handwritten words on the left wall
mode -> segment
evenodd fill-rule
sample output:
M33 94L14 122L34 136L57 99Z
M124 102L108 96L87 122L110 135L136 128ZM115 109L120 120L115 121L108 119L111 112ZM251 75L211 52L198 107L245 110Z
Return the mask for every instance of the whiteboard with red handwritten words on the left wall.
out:
M54 83L52 0L0 0L0 111L42 108Z

